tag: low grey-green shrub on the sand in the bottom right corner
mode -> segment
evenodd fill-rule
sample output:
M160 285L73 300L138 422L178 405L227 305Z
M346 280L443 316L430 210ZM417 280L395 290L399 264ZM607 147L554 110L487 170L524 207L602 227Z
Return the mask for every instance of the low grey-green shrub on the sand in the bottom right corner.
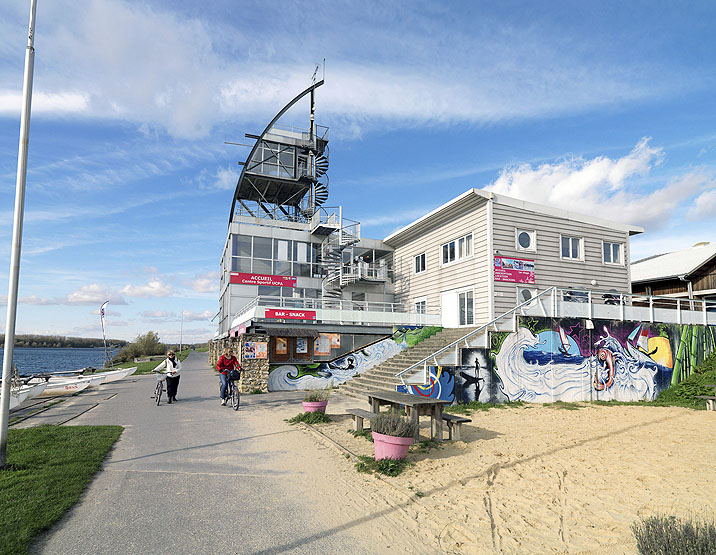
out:
M716 553L713 522L675 516L649 517L631 527L639 553L646 555L707 555Z

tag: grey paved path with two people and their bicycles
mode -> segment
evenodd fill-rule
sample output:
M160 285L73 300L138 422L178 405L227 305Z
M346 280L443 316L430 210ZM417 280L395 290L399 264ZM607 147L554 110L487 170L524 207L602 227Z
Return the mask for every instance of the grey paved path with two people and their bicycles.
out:
M69 423L125 430L80 502L33 553L373 551L351 535L356 529L312 515L315 503L330 501L311 498L302 471L311 461L282 446L287 434L305 433L276 418L287 404L300 412L301 394L245 395L234 412L219 404L202 353L184 362L177 403L155 406L154 383L138 376L110 384L96 407Z

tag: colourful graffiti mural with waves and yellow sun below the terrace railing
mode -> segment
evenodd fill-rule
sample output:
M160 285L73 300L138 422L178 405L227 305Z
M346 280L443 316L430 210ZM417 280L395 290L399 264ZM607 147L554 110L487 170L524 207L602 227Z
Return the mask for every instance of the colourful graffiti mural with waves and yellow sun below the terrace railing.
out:
M653 400L716 350L714 328L601 320L521 318L490 339L463 350L458 401Z

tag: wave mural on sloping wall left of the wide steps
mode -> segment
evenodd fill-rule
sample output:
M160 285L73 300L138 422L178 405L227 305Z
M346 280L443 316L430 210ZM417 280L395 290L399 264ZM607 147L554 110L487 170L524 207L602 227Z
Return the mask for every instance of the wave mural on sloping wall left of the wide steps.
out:
M399 328L390 337L331 362L272 366L268 390L323 389L331 381L334 385L342 384L430 337L440 329L437 327Z

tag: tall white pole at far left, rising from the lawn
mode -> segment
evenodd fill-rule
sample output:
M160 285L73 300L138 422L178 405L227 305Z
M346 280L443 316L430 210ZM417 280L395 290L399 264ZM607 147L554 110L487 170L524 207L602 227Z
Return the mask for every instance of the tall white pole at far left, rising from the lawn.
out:
M10 372L15 355L15 320L17 315L17 288L20 277L20 251L22 247L22 220L25 212L25 182L27 178L27 148L30 142L30 108L32 106L32 78L35 70L35 12L36 0L30 0L30 29L25 49L25 78L22 86L23 109L20 116L20 146L17 154L17 181L15 182L15 217L12 226L12 252L10 281L7 294L7 320L5 323L5 351L2 364L2 394L0 395L0 468L5 466L7 453L7 426L10 419Z

